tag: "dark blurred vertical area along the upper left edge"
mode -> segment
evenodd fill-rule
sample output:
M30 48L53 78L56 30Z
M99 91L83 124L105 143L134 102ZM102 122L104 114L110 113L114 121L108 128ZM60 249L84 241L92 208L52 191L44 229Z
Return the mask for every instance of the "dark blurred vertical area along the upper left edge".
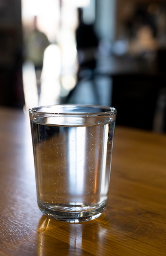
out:
M22 18L20 1L0 1L0 105L22 108Z

